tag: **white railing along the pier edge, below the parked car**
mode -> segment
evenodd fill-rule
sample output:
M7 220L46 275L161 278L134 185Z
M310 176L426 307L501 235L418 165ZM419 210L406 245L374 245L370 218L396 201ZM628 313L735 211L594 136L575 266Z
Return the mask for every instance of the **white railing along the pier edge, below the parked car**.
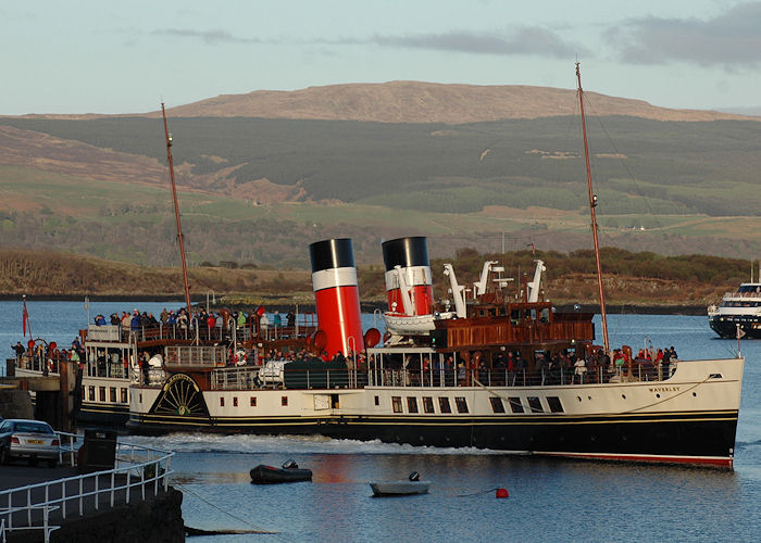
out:
M61 438L68 437L70 443L78 438L66 432L57 433ZM60 528L51 521L113 508L138 498L145 501L147 495L166 492L173 455L173 452L117 442L113 469L1 491L0 522L3 525L0 533L4 539L5 533L18 530L42 530L43 541L48 542L51 532ZM71 465L74 465L73 450Z

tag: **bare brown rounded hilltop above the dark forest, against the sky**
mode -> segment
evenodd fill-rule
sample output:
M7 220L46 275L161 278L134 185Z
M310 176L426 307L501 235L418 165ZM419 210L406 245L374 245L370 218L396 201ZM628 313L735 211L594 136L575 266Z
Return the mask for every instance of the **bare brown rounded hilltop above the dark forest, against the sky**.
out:
M595 104L591 115L626 115L654 121L752 119L716 111L658 108L641 100L586 91ZM459 125L508 118L574 115L575 89L522 85L479 86L424 81L347 84L292 91L257 90L222 94L170 108L170 117L261 117L290 119L363 121L375 123L446 123ZM129 116L161 116L161 111ZM100 115L32 115L46 118L98 118Z

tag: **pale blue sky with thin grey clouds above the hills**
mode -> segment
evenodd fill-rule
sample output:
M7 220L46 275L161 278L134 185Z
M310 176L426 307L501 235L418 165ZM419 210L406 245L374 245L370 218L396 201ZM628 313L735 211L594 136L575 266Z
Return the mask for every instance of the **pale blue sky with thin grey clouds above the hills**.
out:
M760 108L761 1L0 3L0 115L142 113L219 94L421 80Z

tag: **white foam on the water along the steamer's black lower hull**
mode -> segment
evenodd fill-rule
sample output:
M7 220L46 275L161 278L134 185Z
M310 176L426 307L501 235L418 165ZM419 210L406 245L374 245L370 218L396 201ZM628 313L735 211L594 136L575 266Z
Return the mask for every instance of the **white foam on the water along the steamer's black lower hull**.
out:
M162 437L125 435L122 441L178 453L290 453L300 454L435 454L495 455L503 451L475 447L412 446L379 440L334 440L322 435L254 435L170 433Z

